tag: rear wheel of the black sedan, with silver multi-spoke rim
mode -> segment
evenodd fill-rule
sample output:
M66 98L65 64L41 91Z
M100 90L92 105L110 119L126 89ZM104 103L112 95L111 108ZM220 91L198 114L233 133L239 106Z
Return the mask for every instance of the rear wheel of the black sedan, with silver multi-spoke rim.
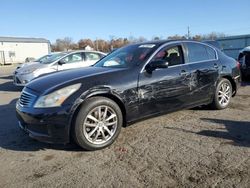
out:
M219 80L211 104L213 109L222 110L228 107L232 98L232 84L228 79Z

